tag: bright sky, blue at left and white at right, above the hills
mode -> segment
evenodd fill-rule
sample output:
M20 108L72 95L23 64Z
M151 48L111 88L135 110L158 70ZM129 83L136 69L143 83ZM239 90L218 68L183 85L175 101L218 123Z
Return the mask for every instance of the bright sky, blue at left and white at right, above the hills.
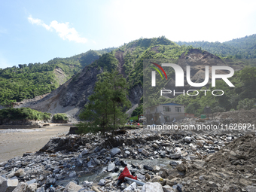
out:
M0 68L164 35L230 41L256 33L256 1L12 0L0 5Z

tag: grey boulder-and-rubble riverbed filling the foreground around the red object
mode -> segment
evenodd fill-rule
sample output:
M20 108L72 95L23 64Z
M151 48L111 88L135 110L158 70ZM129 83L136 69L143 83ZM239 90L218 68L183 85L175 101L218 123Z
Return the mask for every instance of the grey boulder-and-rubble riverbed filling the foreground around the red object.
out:
M0 191L256 191L254 132L120 133L106 141L53 137L38 152L0 163ZM125 166L147 184L117 185Z

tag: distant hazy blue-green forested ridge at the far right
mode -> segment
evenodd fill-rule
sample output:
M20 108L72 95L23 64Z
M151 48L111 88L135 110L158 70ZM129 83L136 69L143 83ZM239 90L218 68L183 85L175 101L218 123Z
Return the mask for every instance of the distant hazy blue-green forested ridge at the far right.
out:
M195 48L202 48L209 53L216 54L222 57L233 57L237 59L255 59L256 58L256 34L245 36L243 38L236 38L231 41L208 42L208 41L194 41L176 42L179 45L187 45Z

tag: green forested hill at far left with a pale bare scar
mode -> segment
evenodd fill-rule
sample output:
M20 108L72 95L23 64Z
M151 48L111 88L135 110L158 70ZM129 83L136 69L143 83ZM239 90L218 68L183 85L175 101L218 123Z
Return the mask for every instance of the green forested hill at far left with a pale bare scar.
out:
M89 50L68 58L54 58L42 64L19 64L0 69L0 105L10 105L11 102L50 93L80 72L84 66L111 50L114 50L114 47Z

